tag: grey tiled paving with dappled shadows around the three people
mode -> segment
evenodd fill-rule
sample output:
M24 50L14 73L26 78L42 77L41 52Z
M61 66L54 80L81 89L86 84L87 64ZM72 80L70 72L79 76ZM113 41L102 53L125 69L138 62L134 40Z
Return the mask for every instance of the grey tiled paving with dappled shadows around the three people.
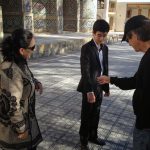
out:
M110 45L110 74L132 75L141 54L127 44ZM38 96L36 112L44 141L38 150L78 150L81 94L76 92L80 78L80 51L55 58L32 60L35 76L43 82L44 93ZM121 91L111 85L111 96L101 107L99 136L106 146L89 144L91 150L131 150L134 115L133 91Z

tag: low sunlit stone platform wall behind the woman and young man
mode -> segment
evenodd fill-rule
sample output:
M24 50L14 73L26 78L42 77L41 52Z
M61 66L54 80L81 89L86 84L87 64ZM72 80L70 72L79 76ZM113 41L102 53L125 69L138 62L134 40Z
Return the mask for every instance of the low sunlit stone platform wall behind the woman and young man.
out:
M73 36L74 35L74 36ZM83 34L84 35L84 34ZM80 50L82 45L91 40L91 35L53 35L53 36L35 36L36 48L32 58L48 57L57 54L65 54L70 51ZM107 44L118 42L119 34L109 34L106 40ZM2 60L0 55L0 61Z

